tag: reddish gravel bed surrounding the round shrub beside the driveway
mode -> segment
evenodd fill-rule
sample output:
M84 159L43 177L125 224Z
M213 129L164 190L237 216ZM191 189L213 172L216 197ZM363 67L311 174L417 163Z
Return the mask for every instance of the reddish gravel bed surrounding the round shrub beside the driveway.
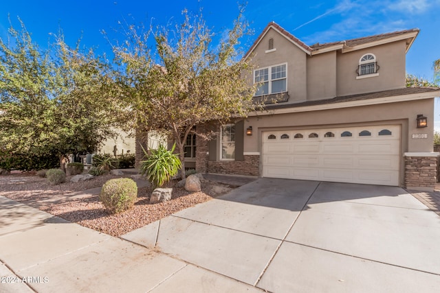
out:
M98 187L102 187L109 179L121 177L131 176L107 174L78 183L70 183L70 178L67 177L67 183L50 185L45 178L35 176L35 173L11 174L0 177L0 196L23 202L87 228L120 236L182 209L206 202L220 195L214 195L213 189L217 189L216 186L225 186L203 180L201 191L189 192L184 188L175 187L177 181L173 181L166 186L173 188L171 200L156 204L150 204L151 187L140 187L137 189L137 200L133 209L110 215L98 200ZM93 192L90 192L90 189ZM87 193L82 192L85 190Z

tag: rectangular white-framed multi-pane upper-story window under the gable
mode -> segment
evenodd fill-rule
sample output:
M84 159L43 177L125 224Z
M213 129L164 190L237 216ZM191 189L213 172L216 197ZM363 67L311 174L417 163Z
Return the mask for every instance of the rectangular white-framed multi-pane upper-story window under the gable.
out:
M287 65L256 69L254 83L261 83L255 95L269 95L287 91Z

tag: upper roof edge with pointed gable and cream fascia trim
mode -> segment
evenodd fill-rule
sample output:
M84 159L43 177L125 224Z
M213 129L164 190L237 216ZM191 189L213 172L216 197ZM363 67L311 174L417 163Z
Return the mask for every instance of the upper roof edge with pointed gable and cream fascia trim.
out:
M254 41L254 44L250 47L250 49L246 52L244 59L248 58L252 51L259 45L265 34L273 29L285 38L296 45L298 48L303 50L308 55L315 55L320 53L325 53L328 51L342 50L342 53L347 51L354 51L358 49L364 49L366 47L372 47L375 45L381 45L384 43L391 43L396 40L406 40L406 51L411 47L414 42L417 34L419 34L419 29L411 29L411 30L401 30L399 32L389 32L386 34L376 34L373 36L365 36L362 38L353 38L350 40L340 40L338 42L331 43L316 43L315 45L306 45L299 38L296 38L293 34L287 32L287 30L283 29L280 25L272 21L268 23L264 28L263 32L259 35L258 38Z

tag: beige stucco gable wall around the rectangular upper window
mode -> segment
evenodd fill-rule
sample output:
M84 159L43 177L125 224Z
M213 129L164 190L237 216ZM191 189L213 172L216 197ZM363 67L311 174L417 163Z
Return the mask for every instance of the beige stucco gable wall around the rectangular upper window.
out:
M265 53L269 39L274 38L275 51ZM252 62L259 68L280 65L287 62L287 91L289 102L303 102L307 97L306 54L292 42L270 29L254 49Z

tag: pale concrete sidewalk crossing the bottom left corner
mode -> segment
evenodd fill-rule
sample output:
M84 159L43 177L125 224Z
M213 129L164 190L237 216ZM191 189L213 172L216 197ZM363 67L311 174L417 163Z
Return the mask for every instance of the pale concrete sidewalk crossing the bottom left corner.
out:
M0 197L0 292L261 292Z

